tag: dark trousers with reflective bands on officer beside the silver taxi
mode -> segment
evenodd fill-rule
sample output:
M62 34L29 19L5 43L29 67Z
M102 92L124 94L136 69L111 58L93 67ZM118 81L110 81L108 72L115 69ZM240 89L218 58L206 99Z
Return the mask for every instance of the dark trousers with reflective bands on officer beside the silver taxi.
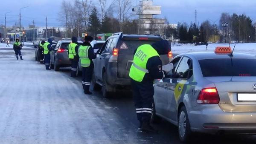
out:
M152 115L152 105L154 102L153 81L137 82L131 80L131 86L133 88L133 98L137 118L140 123L149 123Z

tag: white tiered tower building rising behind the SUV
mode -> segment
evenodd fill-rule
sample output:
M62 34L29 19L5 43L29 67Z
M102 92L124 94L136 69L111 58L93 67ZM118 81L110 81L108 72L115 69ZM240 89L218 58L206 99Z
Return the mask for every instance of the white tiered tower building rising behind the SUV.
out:
M141 0L139 6L132 8L135 15L139 15L138 34L163 35L166 19L154 18L154 15L161 14L161 6L153 6L153 0Z

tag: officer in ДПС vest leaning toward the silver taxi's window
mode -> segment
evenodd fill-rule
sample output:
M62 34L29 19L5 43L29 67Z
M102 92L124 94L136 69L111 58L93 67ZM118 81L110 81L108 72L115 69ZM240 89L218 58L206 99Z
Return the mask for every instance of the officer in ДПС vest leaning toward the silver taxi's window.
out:
M134 105L137 118L140 121L139 130L143 132L157 132L150 125L152 104L154 102L155 79L162 79L160 55L167 55L171 47L167 40L161 40L151 45L144 44L134 52L134 60L130 69L131 85L134 94Z

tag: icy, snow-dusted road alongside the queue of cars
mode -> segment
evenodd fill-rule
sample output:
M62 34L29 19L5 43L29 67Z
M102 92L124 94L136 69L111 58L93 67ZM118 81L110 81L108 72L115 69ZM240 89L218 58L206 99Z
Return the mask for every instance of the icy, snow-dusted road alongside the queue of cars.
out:
M181 144L177 128L155 124L159 134L137 132L130 93L104 99L84 95L70 69L46 71L33 49L0 49L0 144ZM193 136L191 144L255 144L251 135Z

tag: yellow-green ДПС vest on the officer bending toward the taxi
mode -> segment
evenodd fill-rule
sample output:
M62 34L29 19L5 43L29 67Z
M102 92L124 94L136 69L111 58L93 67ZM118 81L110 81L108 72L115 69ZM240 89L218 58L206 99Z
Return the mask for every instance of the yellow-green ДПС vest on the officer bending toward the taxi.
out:
M148 59L154 56L160 57L151 45L144 44L138 47L131 65L130 78L138 82L143 81L145 74L148 73L148 69L146 68Z

